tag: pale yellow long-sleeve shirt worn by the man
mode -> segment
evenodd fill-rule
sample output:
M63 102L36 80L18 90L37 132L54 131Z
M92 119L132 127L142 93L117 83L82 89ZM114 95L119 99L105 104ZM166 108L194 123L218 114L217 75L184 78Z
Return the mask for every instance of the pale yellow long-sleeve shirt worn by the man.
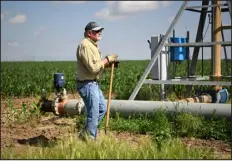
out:
M77 80L99 79L104 70L97 43L84 38L77 47Z

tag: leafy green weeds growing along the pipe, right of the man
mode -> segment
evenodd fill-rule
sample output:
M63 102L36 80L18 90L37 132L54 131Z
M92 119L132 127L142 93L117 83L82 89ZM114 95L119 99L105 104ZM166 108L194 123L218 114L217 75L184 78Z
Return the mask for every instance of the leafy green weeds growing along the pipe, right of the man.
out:
M179 110L180 111L180 110ZM105 128L105 118L100 123L100 129ZM165 112L158 109L153 113L136 113L123 117L117 113L110 117L109 129L153 136L161 146L163 140L170 137L198 137L229 140L231 124L228 119L221 117L204 118L186 112Z

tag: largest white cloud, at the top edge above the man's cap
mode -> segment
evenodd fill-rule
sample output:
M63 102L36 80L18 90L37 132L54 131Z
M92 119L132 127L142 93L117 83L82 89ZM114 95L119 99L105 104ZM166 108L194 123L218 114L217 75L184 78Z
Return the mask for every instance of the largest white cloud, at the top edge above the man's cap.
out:
M101 19L117 20L139 12L151 11L170 5L170 1L108 1L106 8L95 13Z

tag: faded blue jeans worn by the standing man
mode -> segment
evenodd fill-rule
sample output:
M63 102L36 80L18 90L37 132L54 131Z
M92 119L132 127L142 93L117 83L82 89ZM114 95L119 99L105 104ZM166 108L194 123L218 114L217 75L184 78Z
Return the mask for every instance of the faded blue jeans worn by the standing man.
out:
M77 91L85 103L87 113L83 131L96 139L97 127L107 110L103 93L95 81L77 82Z

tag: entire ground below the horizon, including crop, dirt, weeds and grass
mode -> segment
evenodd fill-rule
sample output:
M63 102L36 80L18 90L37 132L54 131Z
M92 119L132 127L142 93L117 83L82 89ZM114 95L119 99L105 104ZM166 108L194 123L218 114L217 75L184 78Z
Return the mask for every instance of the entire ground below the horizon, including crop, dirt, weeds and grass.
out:
M112 98L127 100L149 60L121 61L114 70ZM105 135L105 118L96 141L78 140L84 115L57 117L40 113L37 103L45 89L54 97L53 74L64 73L68 97L78 98L76 62L1 62L1 159L231 159L231 122L226 118L189 113L135 114L110 118ZM171 77L186 77L187 64L176 65ZM210 61L197 64L196 75L210 75ZM222 75L231 76L231 60ZM151 78L151 74L147 78ZM99 84L108 96L110 68ZM191 96L211 86L193 86ZM231 87L225 87L231 94ZM182 99L186 86L170 86L169 101ZM136 100L160 100L158 85L143 85ZM231 97L229 102L231 103Z

